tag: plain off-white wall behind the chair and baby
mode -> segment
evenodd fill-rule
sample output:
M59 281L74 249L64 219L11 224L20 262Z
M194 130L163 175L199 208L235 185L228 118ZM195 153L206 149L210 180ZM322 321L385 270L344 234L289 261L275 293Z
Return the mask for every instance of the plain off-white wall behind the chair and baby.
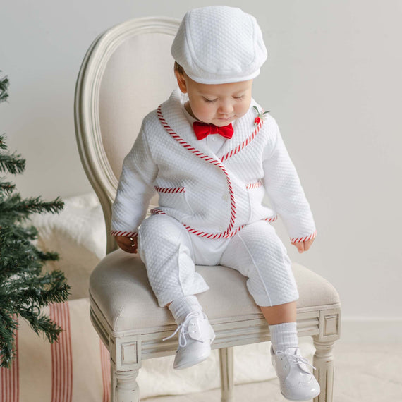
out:
M23 195L90 191L75 145L73 95L85 51L111 25L181 18L212 1L4 1L0 68L11 80L0 132L27 159ZM219 1L260 22L269 59L255 98L271 111L298 168L318 228L294 252L338 288L343 317L401 313L402 2Z

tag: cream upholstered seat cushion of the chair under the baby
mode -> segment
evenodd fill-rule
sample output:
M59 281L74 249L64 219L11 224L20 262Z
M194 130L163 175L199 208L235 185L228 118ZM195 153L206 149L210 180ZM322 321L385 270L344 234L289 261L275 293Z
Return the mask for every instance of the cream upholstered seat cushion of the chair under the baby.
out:
M300 264L292 264L300 298L298 311L309 307L339 305L334 286ZM198 298L210 322L230 322L262 317L248 293L245 276L235 269L196 266L209 285ZM112 331L150 329L174 324L167 308L161 308L147 279L145 265L138 255L116 250L106 255L90 276L92 305L102 312Z

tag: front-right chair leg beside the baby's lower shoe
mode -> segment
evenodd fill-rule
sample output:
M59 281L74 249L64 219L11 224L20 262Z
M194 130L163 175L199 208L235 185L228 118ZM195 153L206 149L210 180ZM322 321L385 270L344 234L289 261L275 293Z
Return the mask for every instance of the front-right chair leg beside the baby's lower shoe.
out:
M334 341L318 341L313 336L315 355L313 365L316 367L315 378L319 382L321 393L314 402L332 402L334 394Z

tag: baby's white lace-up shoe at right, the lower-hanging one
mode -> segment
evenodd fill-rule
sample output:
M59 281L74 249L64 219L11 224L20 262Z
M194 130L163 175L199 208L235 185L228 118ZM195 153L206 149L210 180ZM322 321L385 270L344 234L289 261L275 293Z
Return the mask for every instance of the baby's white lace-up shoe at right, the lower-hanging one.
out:
M281 384L281 393L290 401L308 401L319 395L319 384L307 365L308 360L300 355L299 348L276 351L271 346L271 361Z

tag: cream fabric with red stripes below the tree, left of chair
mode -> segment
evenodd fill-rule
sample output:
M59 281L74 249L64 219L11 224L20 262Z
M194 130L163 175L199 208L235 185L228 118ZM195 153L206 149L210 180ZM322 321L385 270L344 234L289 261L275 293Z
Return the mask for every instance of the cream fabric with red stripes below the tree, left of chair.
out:
M0 370L0 402L108 402L109 352L90 322L89 300L43 312L63 328L59 341L45 341L19 320L17 359Z

